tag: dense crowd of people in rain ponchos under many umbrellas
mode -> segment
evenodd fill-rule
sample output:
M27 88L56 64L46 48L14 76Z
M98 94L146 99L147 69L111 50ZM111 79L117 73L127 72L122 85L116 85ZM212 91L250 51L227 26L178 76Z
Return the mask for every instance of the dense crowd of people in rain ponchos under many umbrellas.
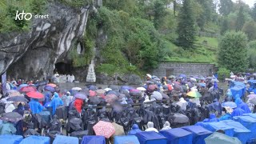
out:
M253 111L253 103L243 102L230 90L223 93L214 76L180 74L160 79L146 74L145 84L138 87L88 85L70 90L45 78L41 82L13 78L6 82L0 100L0 134L63 134L65 128L67 135L93 135L92 127L99 121L115 122L125 134L158 132Z

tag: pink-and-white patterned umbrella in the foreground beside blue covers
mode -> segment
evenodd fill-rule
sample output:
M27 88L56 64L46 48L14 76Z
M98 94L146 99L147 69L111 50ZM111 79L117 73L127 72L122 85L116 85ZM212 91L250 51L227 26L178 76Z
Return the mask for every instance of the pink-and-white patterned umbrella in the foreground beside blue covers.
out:
M114 126L110 122L99 121L93 126L96 135L102 135L105 138L110 138L114 133Z

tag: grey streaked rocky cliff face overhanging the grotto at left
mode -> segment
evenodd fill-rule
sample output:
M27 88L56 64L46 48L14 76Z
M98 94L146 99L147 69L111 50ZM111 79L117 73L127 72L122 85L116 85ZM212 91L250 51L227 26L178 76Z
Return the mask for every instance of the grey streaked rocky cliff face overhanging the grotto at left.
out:
M71 44L82 37L89 7L80 10L49 4L48 19L33 19L22 34L0 34L0 74L14 78L42 78L54 72L56 62L65 61Z

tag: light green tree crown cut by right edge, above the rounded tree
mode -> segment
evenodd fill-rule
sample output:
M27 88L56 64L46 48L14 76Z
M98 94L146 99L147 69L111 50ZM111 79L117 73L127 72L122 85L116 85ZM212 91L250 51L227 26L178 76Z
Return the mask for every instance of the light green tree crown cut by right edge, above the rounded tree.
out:
M242 31L247 34L249 41L256 39L256 22L246 22Z

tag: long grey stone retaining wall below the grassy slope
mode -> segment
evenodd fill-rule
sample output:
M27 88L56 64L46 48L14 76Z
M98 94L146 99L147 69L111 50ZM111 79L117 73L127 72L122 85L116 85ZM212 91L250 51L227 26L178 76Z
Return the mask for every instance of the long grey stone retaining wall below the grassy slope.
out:
M163 62L158 66L158 69L153 71L153 74L162 78L179 74L207 76L214 74L214 72L214 64Z

